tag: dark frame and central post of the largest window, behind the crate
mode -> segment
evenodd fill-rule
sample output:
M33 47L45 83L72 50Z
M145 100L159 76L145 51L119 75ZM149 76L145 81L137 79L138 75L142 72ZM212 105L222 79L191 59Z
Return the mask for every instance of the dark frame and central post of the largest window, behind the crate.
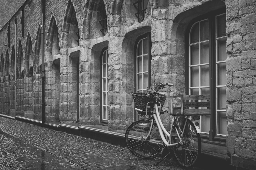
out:
M216 103L217 103L217 90L216 90L216 27L217 24L215 23L216 16L219 16L221 14L226 13L226 8L221 8L218 10L215 10L213 12L209 12L206 15L202 15L199 17L196 17L195 19L191 20L191 22L188 24L186 34L185 34L185 77L186 77L186 83L185 83L185 90L186 94L189 94L189 87L190 87L190 75L189 75L189 51L190 51L190 30L193 27L193 25L198 22L205 19L209 20L209 93L210 93L210 108L211 108L211 115L210 115L210 130L209 135L208 134L200 134L202 138L208 138L210 141L224 141L226 142L226 136L217 134L217 109L216 109ZM214 108L214 109L213 109Z

